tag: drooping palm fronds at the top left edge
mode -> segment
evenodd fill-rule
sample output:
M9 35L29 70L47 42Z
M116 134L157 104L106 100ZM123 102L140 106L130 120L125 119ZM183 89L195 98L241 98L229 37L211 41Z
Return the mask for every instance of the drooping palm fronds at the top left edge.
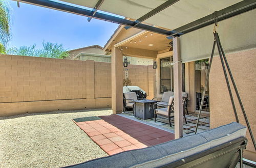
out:
M10 10L6 0L0 0L0 53L5 53L5 48L11 38Z

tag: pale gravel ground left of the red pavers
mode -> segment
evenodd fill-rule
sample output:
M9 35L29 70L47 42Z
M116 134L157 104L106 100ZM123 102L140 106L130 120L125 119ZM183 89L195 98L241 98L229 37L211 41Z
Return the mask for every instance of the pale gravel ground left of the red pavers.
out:
M71 119L111 114L97 109L0 117L0 167L60 167L108 156Z

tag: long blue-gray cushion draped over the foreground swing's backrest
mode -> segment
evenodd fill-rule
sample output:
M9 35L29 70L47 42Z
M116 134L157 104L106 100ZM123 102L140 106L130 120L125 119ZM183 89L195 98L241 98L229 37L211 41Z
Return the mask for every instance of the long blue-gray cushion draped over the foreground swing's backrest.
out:
M198 134L69 167L159 167L245 136L246 127L230 123Z

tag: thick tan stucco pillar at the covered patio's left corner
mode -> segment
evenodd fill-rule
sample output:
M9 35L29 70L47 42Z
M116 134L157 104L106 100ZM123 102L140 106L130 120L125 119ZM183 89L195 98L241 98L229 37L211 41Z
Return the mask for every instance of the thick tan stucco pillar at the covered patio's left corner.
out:
M123 109L123 55L116 47L111 54L112 110L113 114L120 114Z

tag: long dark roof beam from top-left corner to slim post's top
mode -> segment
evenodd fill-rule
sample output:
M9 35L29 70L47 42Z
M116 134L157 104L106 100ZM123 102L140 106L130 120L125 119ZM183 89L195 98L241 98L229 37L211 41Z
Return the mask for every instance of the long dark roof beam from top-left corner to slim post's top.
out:
M16 0L13 0L13 1L16 1ZM49 1L49 0L20 0L19 2L37 5L37 6L41 6L41 7L46 7L46 8L50 8L50 9L55 9L55 10L59 10L59 11L63 11L63 12L69 12L69 13L73 13L73 14L77 14L77 15L81 15L81 16L92 17L92 18L96 18L96 19L100 19L100 20L117 23L117 24L132 26L137 29L154 32L154 33L158 33L158 34L162 34L162 35L166 35L166 36L169 36L169 34L170 34L170 31L160 29L158 27L154 27L151 25L146 25L146 24L142 24L142 23L134 25L134 21L132 21L132 20L127 20L127 19L123 19L120 17L107 15L107 14L103 14L103 13L98 13L98 12L96 12L93 15L91 10L82 9L82 8L74 7L71 5L61 4L61 3L57 3L57 2L53 2L53 1Z

